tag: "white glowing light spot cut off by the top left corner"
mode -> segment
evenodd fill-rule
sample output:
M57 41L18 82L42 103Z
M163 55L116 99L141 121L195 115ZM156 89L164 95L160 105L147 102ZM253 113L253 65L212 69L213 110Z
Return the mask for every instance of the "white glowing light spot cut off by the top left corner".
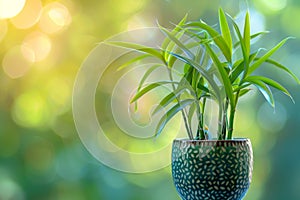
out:
M25 0L0 0L0 19L16 16L25 5Z

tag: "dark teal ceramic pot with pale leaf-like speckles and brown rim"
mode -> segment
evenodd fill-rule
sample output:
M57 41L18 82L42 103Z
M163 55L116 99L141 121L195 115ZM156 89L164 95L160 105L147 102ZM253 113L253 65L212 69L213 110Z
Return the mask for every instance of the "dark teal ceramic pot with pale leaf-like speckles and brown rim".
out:
M252 169L249 139L173 142L173 181L183 200L240 200L250 186Z

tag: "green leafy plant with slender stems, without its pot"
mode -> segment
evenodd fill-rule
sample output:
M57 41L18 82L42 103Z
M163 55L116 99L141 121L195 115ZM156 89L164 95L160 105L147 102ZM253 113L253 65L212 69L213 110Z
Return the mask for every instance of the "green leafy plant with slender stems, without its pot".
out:
M162 132L170 119L181 112L189 139L208 139L205 111L206 102L210 99L217 103L219 110L216 139L232 139L239 99L253 87L256 87L273 107L275 104L270 86L292 99L288 90L272 77L254 74L263 64L270 64L300 83L287 67L270 58L290 38L283 39L270 50L254 49L253 39L259 39L267 32L250 34L249 12L245 15L243 27L241 30L235 20L220 8L218 27L210 26L201 20L187 21L187 16L173 30L159 26L165 35L160 48L120 41L108 42L142 54L123 64L120 69L149 56L158 59L159 64L148 68L141 78L135 96L131 99L131 103L136 103L149 91L166 84L171 85L172 91L153 111L153 114L156 114L162 108L167 109L157 125L156 136ZM180 74L180 80L175 81L173 68L175 63L179 62L183 72ZM161 66L167 69L169 80L145 83L149 75ZM192 118L195 117L197 128L193 133Z

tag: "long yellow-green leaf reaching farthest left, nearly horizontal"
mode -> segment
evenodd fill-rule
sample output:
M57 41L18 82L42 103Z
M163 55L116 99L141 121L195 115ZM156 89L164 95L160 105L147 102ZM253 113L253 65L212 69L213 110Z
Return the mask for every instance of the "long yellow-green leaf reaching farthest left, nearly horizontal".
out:
M136 43L131 43L131 42L123 42L123 41L105 41L106 44L118 46L118 47L123 47L127 49L133 49L136 51L140 51L143 53L148 53L154 57L159 58L160 60L164 61L162 52L158 49L155 49L154 47L148 47Z

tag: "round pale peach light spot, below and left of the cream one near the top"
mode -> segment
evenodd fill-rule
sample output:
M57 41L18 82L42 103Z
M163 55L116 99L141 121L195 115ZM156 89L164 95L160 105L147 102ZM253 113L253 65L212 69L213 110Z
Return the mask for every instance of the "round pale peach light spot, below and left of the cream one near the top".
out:
M22 51L28 61L38 62L44 60L49 55L51 47L51 40L46 34L33 32L24 39Z

